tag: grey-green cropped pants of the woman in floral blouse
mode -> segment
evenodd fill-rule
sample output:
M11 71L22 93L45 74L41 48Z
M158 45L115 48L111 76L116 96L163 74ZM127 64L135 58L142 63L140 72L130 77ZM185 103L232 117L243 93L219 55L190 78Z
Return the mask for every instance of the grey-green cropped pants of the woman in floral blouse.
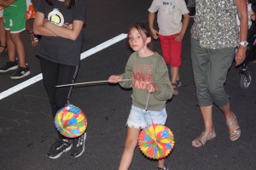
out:
M234 59L235 48L201 48L199 41L193 37L190 42L198 105L227 105L229 96L224 91L224 82Z

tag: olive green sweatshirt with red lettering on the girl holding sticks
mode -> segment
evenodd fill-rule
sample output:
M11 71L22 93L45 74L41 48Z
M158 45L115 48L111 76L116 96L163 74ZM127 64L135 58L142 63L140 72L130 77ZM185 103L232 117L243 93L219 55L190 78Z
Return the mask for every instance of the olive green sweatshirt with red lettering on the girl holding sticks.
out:
M148 57L139 57L137 52L131 54L125 66L123 88L132 88L132 105L145 109L148 99L148 84L154 83L159 91L150 94L148 111L160 111L166 107L166 100L172 98L173 89L164 59L158 53Z

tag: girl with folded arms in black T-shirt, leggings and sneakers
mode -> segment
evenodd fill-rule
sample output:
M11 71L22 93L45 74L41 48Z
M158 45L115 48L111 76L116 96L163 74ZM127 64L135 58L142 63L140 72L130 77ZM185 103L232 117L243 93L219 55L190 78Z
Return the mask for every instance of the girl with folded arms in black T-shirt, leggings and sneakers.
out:
M72 87L55 86L73 83L78 73L85 16L85 0L40 0L38 3L33 28L35 34L42 35L42 38L36 54L40 59L53 118L68 103L72 91ZM77 139L67 139L58 134L59 140L47 154L49 158L58 158L70 149L73 157L84 153L85 133Z

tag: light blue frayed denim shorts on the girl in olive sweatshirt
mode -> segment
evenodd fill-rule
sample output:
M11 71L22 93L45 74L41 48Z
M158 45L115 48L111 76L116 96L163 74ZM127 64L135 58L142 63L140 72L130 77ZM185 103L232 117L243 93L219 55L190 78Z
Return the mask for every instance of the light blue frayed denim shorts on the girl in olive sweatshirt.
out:
M127 127L144 128L152 124L166 124L166 108L160 111L146 111L131 105L131 112L127 120Z

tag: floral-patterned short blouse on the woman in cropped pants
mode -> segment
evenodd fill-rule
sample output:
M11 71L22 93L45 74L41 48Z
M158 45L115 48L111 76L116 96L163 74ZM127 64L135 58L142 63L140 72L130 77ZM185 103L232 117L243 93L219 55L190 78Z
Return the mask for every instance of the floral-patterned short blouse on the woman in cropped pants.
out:
M191 36L202 48L235 48L238 44L234 0L196 0Z

